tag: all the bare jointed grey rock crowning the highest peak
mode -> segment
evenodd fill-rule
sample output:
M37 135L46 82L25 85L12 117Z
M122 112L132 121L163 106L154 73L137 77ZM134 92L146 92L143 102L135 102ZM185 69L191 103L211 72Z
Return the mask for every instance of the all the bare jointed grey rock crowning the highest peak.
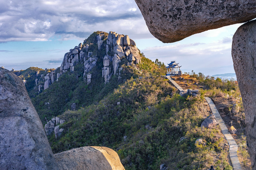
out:
M125 58L127 60L126 65L141 63L139 50L135 42L128 35L111 31L109 33L100 32L94 37L94 41L96 41L98 46L97 50L106 49L102 63L102 77L104 77L105 83L109 82L112 75L119 75L121 73L120 63L122 59ZM84 63L84 79L88 84L91 83L92 74L90 72L96 66L100 57L97 56L93 45L84 40L83 44L80 43L75 48L70 49L64 55L60 66L60 75L68 70L74 72L74 66L78 63ZM46 82L47 85L49 85L48 82Z

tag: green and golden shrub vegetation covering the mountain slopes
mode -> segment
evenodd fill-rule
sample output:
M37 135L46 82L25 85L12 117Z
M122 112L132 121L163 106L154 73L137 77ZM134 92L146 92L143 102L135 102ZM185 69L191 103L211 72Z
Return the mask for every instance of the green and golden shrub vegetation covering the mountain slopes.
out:
M93 36L87 39L87 43L98 49ZM20 77L27 79L28 93L43 124L55 116L65 120L60 125L64 129L60 137L56 139L54 134L48 136L53 153L81 146L106 146L118 153L127 170L159 169L161 164L168 166L168 169L203 170L210 165L216 169L223 166L226 170L232 169L229 166L228 144L219 126L212 129L200 126L211 114L204 96L214 101L218 101L218 97L224 99L227 94L238 97L240 92L234 80L215 80L202 73L192 73L190 77L195 81L180 84L201 89L201 96L181 97L177 89L161 77L165 75L164 64L154 63L140 53L139 71L133 66L125 66L124 62L121 78L118 80L117 76L113 76L105 84L101 75L104 50L94 50L100 57L91 71L89 85L82 76L82 63L75 66L73 73L68 71L62 74L58 82L39 94L38 89L33 88L33 71L38 68L19 73ZM39 71L46 75L51 70ZM58 68L56 73L59 71ZM241 106L239 114L230 114L232 120L236 118L233 125L240 137L245 133L243 107L240 99L233 98L228 101ZM72 103L76 103L75 111L70 110ZM204 144L195 144L199 138ZM240 141L241 157L246 169L249 159L243 141Z

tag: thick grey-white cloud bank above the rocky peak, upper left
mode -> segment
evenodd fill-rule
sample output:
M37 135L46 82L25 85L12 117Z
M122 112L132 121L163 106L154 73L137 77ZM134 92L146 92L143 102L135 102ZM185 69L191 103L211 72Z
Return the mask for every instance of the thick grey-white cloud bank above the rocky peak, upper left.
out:
M135 1L13 0L0 4L1 42L46 41L54 35L63 35L63 40L85 39L98 30L149 34Z

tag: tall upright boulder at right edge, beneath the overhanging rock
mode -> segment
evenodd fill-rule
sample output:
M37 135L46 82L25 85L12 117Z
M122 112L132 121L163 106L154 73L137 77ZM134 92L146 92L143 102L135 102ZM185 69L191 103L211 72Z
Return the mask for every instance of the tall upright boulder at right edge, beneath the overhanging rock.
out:
M255 4L255 3L253 3ZM252 169L256 169L256 21L240 26L233 36L232 58L241 92Z

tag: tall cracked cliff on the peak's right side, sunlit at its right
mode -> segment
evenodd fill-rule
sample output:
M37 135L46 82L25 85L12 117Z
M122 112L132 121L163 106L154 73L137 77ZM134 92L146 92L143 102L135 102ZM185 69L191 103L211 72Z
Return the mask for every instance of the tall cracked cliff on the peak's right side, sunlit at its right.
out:
M141 63L141 57L135 42L128 35L110 31L106 44L106 55L103 59L104 67L102 68L102 77L104 77L105 83L109 82L112 74L120 74L121 70L119 68L123 58L127 59L127 65Z

